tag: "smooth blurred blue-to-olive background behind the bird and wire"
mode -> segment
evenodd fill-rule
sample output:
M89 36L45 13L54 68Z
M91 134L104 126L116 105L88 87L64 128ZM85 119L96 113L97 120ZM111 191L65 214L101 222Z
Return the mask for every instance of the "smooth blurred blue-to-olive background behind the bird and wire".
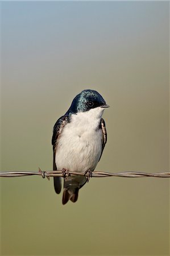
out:
M1 170L52 170L52 127L82 89L106 109L98 171L169 170L169 3L2 2ZM1 179L1 255L168 255L169 180Z

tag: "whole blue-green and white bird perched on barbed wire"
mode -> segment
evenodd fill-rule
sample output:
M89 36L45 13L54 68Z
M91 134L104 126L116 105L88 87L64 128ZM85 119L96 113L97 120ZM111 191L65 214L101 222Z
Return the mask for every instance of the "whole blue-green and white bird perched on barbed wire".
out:
M92 176L107 142L105 108L109 108L96 90L85 89L74 97L68 111L53 127L53 171L80 172ZM63 205L75 203L79 189L88 181L86 175L64 179ZM61 177L54 177L55 192L61 192Z

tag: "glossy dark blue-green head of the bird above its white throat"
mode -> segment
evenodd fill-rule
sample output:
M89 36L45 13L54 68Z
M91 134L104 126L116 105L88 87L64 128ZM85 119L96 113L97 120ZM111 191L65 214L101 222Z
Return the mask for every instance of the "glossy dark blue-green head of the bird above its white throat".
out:
M106 104L106 101L103 99L101 94L96 92L96 90L82 90L82 92L79 93L72 101L72 105L68 112L76 114L78 112L86 112L97 107L108 108L109 105Z

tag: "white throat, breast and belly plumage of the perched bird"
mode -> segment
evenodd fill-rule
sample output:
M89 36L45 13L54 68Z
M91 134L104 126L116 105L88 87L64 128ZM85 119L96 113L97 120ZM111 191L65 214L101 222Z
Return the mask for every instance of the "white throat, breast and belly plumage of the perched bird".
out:
M57 170L85 172L94 170L102 152L102 130L98 129L103 109L72 114L64 126L56 150Z

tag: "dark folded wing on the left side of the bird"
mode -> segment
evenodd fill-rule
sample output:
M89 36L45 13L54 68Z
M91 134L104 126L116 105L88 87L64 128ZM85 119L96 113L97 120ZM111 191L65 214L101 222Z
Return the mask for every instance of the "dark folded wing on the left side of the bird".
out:
M61 131L63 130L63 127L68 122L68 115L63 115L63 117L60 117L57 122L55 123L55 126L53 127L53 135L52 135L52 145L53 145L53 171L57 170L55 157L56 157L56 148L57 148L57 141L61 134ZM54 186L55 191L57 194L61 191L61 177L54 177Z

